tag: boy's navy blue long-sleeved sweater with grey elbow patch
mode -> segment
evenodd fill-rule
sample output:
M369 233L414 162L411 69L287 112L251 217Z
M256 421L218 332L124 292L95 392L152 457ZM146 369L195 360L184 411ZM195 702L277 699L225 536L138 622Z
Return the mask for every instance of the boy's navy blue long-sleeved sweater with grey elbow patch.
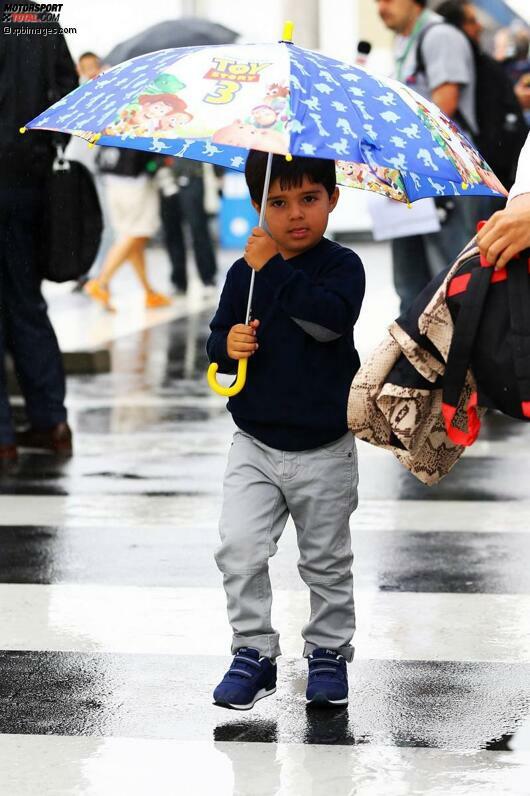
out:
M220 373L235 373L230 328L245 322L251 269L228 271L207 342ZM237 426L271 448L307 450L346 433L346 406L359 356L353 326L364 296L364 269L350 249L322 238L309 251L276 255L256 273L252 318L259 348L243 390L228 401Z

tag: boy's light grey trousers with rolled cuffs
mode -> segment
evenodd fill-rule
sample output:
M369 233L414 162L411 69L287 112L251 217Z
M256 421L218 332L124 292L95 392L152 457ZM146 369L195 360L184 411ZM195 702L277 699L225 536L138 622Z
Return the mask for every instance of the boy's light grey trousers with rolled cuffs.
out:
M353 435L321 448L280 451L236 431L228 456L215 553L223 573L232 652L255 647L281 655L271 624L268 560L291 514L310 592L310 617L302 629L304 655L328 647L352 660L355 630L349 518L357 507L357 452Z

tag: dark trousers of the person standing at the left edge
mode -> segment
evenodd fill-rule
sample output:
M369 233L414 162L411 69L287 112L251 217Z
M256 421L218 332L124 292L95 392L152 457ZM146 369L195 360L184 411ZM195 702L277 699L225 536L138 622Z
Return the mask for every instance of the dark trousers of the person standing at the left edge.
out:
M66 420L65 379L38 276L40 183L0 185L0 444L14 442L5 354L10 352L32 427Z

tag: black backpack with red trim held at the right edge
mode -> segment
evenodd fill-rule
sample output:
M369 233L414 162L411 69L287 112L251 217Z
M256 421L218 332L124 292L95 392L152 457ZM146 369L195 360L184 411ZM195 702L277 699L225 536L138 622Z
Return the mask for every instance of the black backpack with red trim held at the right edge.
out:
M443 376L442 411L447 434L472 445L480 431L476 407L530 420L530 250L498 271L478 254L464 260L447 290L454 322ZM453 425L466 373L477 391L467 406L468 429Z

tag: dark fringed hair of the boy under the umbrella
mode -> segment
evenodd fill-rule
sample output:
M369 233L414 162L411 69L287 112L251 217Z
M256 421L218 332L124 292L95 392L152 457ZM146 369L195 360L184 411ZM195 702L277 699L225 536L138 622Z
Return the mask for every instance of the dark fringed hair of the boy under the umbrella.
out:
M245 166L245 179L251 198L258 205L263 199L263 185L267 169L267 152L251 149ZM284 155L273 155L271 168L271 184L280 180L282 191L288 188L299 188L304 177L310 182L320 183L331 196L337 184L335 161L324 158L294 157L286 160Z

